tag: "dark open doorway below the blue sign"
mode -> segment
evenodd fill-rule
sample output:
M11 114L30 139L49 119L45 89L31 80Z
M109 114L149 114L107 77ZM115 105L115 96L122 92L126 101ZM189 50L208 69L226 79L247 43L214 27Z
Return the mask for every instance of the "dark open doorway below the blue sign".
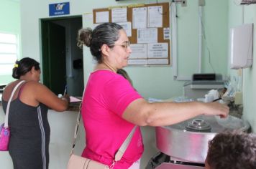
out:
M83 95L83 50L76 46L82 16L41 19L42 82L55 95Z

